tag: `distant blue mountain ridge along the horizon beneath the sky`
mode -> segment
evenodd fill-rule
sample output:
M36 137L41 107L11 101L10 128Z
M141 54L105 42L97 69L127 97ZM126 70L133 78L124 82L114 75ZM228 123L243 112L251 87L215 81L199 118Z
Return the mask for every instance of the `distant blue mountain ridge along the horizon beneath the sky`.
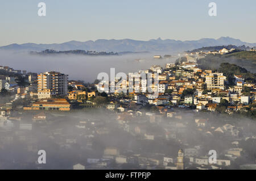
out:
M166 39L162 40L152 39L149 41L140 41L132 39L122 40L105 40L100 39L96 41L68 41L60 44L10 44L0 47L0 50L16 50L16 51L42 51L45 49L54 49L59 51L64 50L92 50L97 52L180 52L185 50L193 50L201 47L212 47L221 45L236 45L246 47L255 47L256 43L246 43L239 39L233 39L232 37L220 37L219 39L204 38L200 40L192 41L180 41Z

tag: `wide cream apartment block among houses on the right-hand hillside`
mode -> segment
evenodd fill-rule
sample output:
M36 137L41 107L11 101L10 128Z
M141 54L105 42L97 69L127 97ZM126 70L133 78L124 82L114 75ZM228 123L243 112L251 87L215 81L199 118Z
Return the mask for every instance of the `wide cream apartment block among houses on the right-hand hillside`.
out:
M226 77L223 73L210 73L205 77L205 83L207 83L207 89L222 89L224 90L224 81Z

